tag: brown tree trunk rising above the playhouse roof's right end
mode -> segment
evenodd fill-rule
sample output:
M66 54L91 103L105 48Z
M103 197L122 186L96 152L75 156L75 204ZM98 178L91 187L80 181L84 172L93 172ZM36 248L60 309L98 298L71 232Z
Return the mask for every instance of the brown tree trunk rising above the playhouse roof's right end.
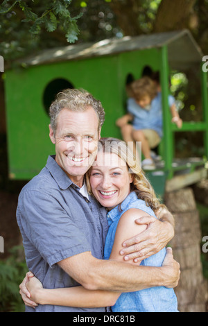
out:
M154 33L188 28L196 0L162 0L157 10Z

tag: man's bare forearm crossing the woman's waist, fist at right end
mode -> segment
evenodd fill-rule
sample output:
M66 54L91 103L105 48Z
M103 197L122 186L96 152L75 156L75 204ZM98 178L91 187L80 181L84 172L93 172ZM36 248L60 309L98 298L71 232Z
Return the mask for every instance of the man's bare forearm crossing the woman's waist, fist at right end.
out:
M99 260L90 252L64 259L58 264L89 290L131 292L153 286L175 287L180 275L179 264L174 260L171 267L132 266L120 261Z

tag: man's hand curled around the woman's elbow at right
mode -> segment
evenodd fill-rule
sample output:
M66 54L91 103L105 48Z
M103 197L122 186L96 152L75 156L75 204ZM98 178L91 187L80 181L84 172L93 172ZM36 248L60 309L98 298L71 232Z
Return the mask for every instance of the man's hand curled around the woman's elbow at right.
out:
M173 259L173 250L171 247L166 248L166 257L162 264L162 269L166 274L167 288L175 288L180 279L180 264Z

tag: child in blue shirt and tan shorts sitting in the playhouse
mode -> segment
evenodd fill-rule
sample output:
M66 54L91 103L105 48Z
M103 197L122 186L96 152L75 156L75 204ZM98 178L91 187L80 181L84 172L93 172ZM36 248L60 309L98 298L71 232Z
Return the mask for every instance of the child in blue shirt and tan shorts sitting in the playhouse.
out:
M121 135L125 142L141 141L141 152L145 159L141 162L144 170L155 169L155 163L150 155L150 149L155 148L162 138L162 94L153 80L143 77L132 82L128 87L127 101L128 114L116 121L121 128ZM171 108L172 122L178 128L182 126L175 106L173 96L168 96ZM132 125L128 122L132 121ZM136 148L134 146L133 150Z

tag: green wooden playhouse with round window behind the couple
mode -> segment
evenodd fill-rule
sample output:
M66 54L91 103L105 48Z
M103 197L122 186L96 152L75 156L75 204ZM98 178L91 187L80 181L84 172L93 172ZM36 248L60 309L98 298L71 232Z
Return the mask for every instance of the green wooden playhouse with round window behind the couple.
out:
M140 78L147 65L159 71L162 85L164 137L159 146L163 164L148 173L157 194L197 182L205 175L202 159L174 158L174 132L204 133L208 157L207 74L202 71L203 54L189 31L123 37L46 50L7 69L6 117L9 177L29 180L40 172L54 153L49 139L49 105L64 88L83 88L101 100L106 118L102 137L121 137L115 121L125 113L125 82L129 74ZM184 121L182 129L171 123L168 110L168 78L171 69L198 67L201 81L203 121ZM179 173L180 171L180 173ZM183 173L184 171L184 173ZM187 173L188 171L188 173Z

